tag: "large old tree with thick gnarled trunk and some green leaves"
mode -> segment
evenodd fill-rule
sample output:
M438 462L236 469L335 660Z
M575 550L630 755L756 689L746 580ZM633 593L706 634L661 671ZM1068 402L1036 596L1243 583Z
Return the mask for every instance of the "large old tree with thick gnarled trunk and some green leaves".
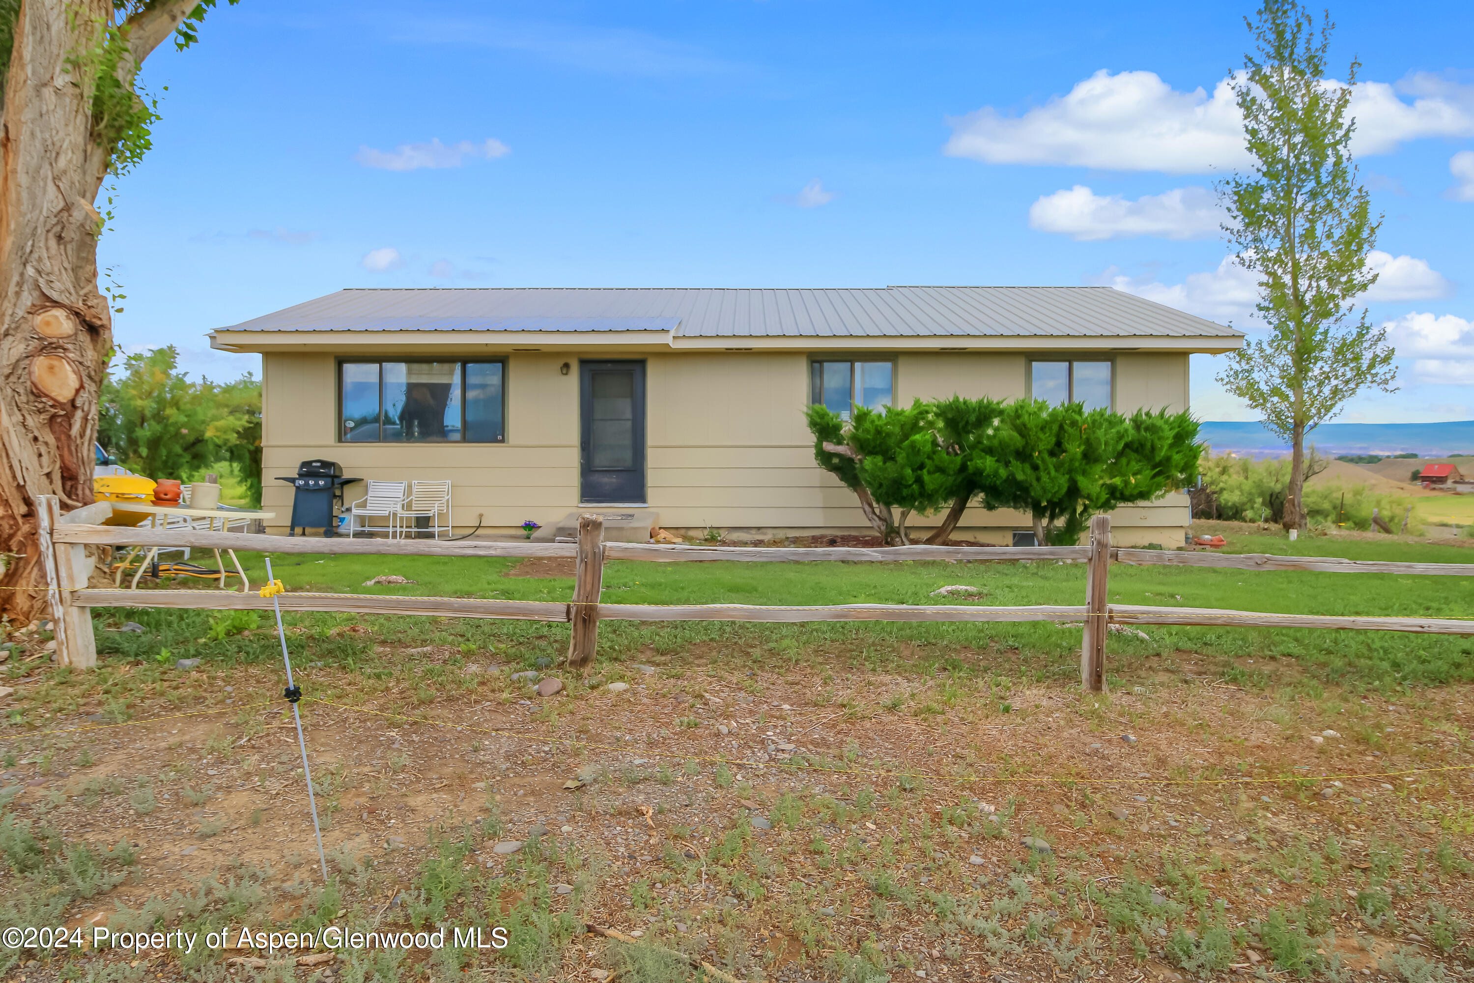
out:
M139 68L220 0L0 0L0 616L44 597L37 498L93 500L112 311L94 205L149 150ZM224 0L237 3L239 0Z

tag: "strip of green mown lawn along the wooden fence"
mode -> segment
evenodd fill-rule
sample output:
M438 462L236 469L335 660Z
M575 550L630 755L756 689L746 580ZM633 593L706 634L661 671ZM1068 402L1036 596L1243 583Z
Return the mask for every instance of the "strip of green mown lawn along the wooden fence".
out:
M1293 547L1293 548L1291 548ZM1422 563L1456 563L1474 559L1458 547L1418 542L1378 542L1307 538L1290 544L1284 536L1234 535L1238 553L1296 553ZM242 557L246 560L248 557ZM273 562L289 591L332 591L399 595L448 595L504 600L556 600L572 597L573 579L509 576L517 560L373 556L283 556ZM252 559L254 582L264 579L259 559ZM413 585L364 587L364 581L397 573ZM609 603L641 604L842 604L937 603L930 592L951 584L983 591L977 603L1080 604L1085 597L1083 564L1063 563L632 563L613 562L604 570ZM1474 612L1474 578L1399 576L1378 573L1235 572L1175 567L1111 567L1111 600L1123 604L1225 607L1237 610L1462 618ZM189 587L186 584L186 587ZM271 644L234 637L208 638L211 622L227 616L202 612L99 612L111 620L131 618L156 629L147 638L100 632L102 650L153 657L159 650L189 651L230 662L274 659ZM332 631L357 616L289 615L290 623ZM532 668L556 659L566 647L567 629L528 622L394 619L395 632L419 644L494 646ZM217 631L218 634L218 631ZM881 665L901 653L921 653L932 660L967 663L973 671L1007 653L1011 669L1029 675L1069 679L1077 672L1077 626L1052 623L811 623L744 625L721 622L606 622L600 628L601 656L628 660L640 651L678 651L687 646L737 646L758 651L822 648L846 659L856 653ZM1304 663L1327 681L1383 688L1474 678L1474 638L1396 632L1350 632L1260 628L1153 626L1148 640L1111 635L1110 672L1142 665L1166 653L1192 651L1213 659L1265 653ZM196 641L205 638L205 641ZM361 660L364 644L351 637L333 640L342 657ZM336 650L335 648L335 650ZM1235 669L1237 672L1238 669Z

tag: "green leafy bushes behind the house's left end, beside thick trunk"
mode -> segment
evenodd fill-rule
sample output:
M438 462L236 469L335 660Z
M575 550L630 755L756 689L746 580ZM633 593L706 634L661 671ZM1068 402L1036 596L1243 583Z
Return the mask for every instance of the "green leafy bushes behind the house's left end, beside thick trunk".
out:
M261 383L217 385L177 371L171 345L128 355L103 382L97 438L128 470L189 480L230 461L261 501Z

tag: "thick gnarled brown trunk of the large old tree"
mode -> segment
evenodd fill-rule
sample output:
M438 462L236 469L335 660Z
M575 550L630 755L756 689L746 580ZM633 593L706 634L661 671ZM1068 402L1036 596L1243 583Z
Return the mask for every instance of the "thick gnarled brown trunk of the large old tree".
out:
M93 200L108 152L91 139L84 69L69 63L106 0L25 0L0 118L0 550L13 554L0 613L27 620L44 594L37 495L93 500L97 392L112 346L97 292ZM72 59L74 60L74 59Z

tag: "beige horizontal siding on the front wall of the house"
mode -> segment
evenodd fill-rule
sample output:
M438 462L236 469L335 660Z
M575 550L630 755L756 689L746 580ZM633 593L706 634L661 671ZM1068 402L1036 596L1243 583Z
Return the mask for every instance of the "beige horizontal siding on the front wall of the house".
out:
M376 357L422 352L407 346ZM436 357L454 355L438 351ZM647 492L660 525L775 534L868 529L855 497L814 464L802 417L806 352L591 357L647 363ZM575 365L567 376L559 371L565 361ZM333 355L267 352L264 506L277 513L274 531L284 531L292 510L292 486L276 477L293 475L298 461L312 457L336 460L345 475L358 477L450 479L457 529L470 529L478 514L485 531L510 531L526 519L544 525L562 519L579 506L576 363L569 352L507 357L506 444L379 445L336 441ZM1026 363L1023 352L902 352L896 355L896 399L952 393L1017 398L1026 391ZM1187 365L1187 354L1119 354L1116 408L1185 408ZM363 485L349 485L346 494L351 501L363 494ZM1123 544L1170 544L1188 523L1187 498L1170 495L1122 508L1114 520ZM1024 516L977 508L964 517L961 535L1005 542L1010 531L1027 525Z

